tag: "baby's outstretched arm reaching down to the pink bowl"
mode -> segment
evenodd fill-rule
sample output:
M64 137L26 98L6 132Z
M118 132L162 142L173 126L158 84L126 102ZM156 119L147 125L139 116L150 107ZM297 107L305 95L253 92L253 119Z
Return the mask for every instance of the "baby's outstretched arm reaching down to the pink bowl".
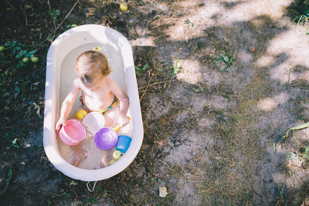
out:
M78 91L80 91L80 80L76 78L73 80L73 84L71 86L71 89L69 91L69 94L65 98L65 100L62 102L61 111L60 111L60 118L56 124L56 130L60 130L61 126L66 126L65 122L67 120L67 117L69 116L69 113L72 110L74 101L76 100L76 97L78 95Z

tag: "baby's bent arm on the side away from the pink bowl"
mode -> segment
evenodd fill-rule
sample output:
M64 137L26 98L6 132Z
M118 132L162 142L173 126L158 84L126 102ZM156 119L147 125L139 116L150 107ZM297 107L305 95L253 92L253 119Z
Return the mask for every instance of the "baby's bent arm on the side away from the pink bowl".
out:
M128 122L130 121L128 117L126 117L129 106L128 95L124 93L124 91L118 86L118 84L114 80L112 80L111 78L108 79L108 87L119 100L119 117L117 122L120 124L120 126L126 126L126 124L128 124Z

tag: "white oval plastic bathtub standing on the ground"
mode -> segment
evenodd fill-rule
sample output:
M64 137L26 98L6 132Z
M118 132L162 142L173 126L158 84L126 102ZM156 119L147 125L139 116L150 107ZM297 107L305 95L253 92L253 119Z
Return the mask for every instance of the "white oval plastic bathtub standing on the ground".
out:
M111 78L115 80L130 99L130 130L132 142L125 155L113 165L97 170L76 168L59 152L55 124L58 121L60 106L76 77L76 58L93 47L102 47L113 69ZM114 64L114 65L113 65ZM78 100L72 111L78 106ZM100 181L115 176L132 163L143 141L144 128L141 119L139 94L132 47L119 32L102 25L81 25L64 32L49 48L45 84L45 114L43 144L49 161L63 174L81 181Z

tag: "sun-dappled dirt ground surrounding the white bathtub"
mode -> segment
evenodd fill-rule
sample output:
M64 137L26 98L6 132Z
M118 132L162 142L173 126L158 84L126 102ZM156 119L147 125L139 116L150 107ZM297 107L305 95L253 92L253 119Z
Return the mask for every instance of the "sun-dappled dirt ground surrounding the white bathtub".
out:
M123 12L113 0L1 1L0 45L19 41L40 60L19 70L1 62L0 205L309 205L309 128L284 138L309 122L298 1L126 2ZM47 159L43 111L49 45L89 23L121 32L135 66L148 67L137 77L139 155L87 183Z

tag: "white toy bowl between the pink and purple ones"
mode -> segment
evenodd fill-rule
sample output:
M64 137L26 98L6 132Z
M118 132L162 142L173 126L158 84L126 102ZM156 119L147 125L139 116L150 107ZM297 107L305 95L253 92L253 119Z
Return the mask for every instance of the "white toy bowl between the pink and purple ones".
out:
M100 130L100 128L104 128L105 118L101 113L91 112L82 120L82 124L87 126L87 129L95 134Z

